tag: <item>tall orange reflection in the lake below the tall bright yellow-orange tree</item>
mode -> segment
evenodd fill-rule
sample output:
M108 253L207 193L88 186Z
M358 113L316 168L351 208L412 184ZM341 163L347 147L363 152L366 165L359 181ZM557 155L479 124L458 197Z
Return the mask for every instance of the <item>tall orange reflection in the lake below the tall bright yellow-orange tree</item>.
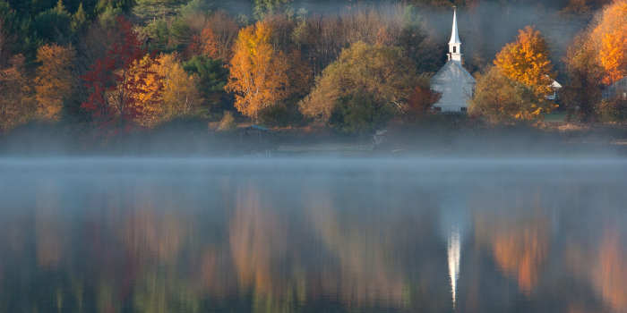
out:
M260 295L281 292L272 278L275 277L272 262L283 259L286 235L277 216L262 211L256 190L238 192L235 216L229 227L229 243L241 287L252 286Z

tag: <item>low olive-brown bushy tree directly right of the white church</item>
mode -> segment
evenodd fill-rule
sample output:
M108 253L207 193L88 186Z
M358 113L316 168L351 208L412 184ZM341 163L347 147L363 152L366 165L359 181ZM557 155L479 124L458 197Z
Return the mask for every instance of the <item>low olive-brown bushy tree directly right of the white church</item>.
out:
M475 95L468 107L468 114L481 116L489 123L532 121L542 112L533 89L511 80L495 66L477 77Z

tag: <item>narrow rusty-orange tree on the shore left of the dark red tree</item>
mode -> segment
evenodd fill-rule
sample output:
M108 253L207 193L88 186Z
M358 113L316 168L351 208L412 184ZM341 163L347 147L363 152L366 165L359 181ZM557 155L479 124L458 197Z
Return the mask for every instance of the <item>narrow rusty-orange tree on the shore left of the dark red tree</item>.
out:
M56 121L64 100L73 89L73 47L56 44L45 45L37 50L37 61L41 63L35 77L37 114L40 118Z

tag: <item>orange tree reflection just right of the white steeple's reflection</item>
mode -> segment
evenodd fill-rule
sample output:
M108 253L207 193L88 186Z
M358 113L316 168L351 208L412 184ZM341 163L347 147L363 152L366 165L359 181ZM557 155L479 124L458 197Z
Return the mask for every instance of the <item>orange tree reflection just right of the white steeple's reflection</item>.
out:
M477 223L476 233L477 240L490 245L502 271L516 278L520 291L531 292L549 250L547 221L544 218L519 223L481 221Z

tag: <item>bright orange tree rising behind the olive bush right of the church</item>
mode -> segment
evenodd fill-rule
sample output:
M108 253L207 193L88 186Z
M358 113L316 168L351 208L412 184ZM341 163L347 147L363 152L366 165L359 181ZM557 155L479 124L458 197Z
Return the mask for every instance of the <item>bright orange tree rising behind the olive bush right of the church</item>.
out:
M505 77L534 90L538 101L553 91L553 64L549 60L548 47L545 38L532 27L520 30L516 41L507 44L496 55L494 65ZM546 109L550 110L548 106Z

